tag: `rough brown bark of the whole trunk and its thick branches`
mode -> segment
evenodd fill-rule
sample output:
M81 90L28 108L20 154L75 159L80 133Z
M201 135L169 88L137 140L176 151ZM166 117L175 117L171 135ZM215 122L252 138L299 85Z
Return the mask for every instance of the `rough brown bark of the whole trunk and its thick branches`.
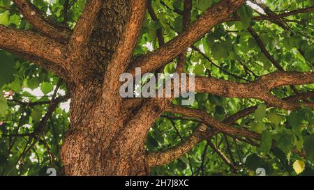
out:
M0 48L44 66L62 77L68 86L71 124L61 148L66 175L148 175L150 166L166 164L179 158L216 132L260 139L259 134L230 126L257 107L239 111L224 122L218 122L207 112L170 106L171 99L127 101L119 95L120 74L128 71L134 76L136 67L142 68L142 72L163 67L184 53L216 24L239 19L230 15L244 0L221 0L190 26L188 12L191 1L187 0L184 8L184 32L165 43L161 38L162 31L159 30L160 48L133 59L146 0L89 0L71 36L69 29L47 22L30 1L14 2L41 34L0 25ZM312 9L301 10L301 13ZM151 5L148 10L152 19L158 21ZM184 54L181 62L184 62ZM181 69L178 72L183 72L183 65L179 65ZM264 101L267 106L294 110L302 105L297 100L305 96L300 94L291 98L296 101L280 100L270 90L313 82L313 72L274 72L246 84L196 77L195 92L255 98ZM308 95L313 96L313 93ZM314 108L313 102L304 102L303 105ZM163 111L197 118L203 125L181 145L147 155L144 147L147 133ZM209 130L204 125L214 130Z

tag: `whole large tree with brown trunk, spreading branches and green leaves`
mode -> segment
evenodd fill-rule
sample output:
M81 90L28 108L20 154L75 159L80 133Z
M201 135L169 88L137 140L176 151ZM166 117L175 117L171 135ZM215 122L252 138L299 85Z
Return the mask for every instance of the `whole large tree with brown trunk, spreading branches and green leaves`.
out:
M1 174L313 174L313 9L1 0ZM194 72L196 101L122 98L119 77L135 68Z

